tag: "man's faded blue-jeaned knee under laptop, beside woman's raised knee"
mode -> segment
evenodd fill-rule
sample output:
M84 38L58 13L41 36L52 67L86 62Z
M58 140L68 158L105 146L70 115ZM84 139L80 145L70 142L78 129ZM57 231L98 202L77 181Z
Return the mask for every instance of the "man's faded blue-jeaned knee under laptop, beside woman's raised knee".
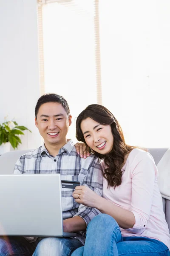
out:
M71 237L48 237L38 243L33 256L70 256L82 245L80 241Z

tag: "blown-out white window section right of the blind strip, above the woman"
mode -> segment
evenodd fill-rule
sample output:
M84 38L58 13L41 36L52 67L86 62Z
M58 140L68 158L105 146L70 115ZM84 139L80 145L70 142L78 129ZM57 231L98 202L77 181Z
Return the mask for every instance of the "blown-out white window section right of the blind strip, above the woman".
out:
M100 0L102 104L127 144L170 147L170 1Z

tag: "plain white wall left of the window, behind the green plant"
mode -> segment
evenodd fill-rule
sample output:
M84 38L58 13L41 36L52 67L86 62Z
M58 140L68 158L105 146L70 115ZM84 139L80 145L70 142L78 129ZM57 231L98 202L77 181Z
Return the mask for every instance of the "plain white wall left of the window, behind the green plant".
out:
M0 123L8 115L32 131L18 149L41 144L34 125L39 97L37 0L0 0Z

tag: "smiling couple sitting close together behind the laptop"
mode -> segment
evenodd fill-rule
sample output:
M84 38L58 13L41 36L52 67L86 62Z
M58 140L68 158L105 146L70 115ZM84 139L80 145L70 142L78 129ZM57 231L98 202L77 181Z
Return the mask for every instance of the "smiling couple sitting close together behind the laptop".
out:
M57 172L63 180L80 181L83 186L62 198L64 231L77 237L4 238L0 256L169 256L155 163L146 151L125 144L113 114L101 105L90 105L79 114L77 140L94 153L85 158L71 140L67 142L71 115L63 97L41 96L35 116L45 143L20 157L14 173Z

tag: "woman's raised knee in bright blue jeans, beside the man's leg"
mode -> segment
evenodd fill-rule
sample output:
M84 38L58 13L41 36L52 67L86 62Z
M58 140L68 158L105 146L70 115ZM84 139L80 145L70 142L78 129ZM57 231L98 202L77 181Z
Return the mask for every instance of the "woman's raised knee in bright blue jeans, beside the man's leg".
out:
M99 214L88 224L83 256L118 256L116 244L120 241L117 222L110 215ZM74 255L82 255L82 249L79 251L81 254Z

